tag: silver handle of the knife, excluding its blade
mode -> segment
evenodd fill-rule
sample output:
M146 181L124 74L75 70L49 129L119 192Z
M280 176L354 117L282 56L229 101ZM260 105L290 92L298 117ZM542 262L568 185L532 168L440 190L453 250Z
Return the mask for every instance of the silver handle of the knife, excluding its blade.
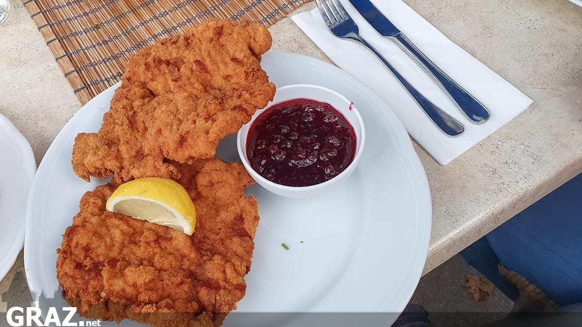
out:
M409 38L403 33L398 33L391 37L396 43L409 54L413 59L415 59L421 67L423 67L427 73L445 90L450 97L450 99L455 102L457 107L474 123L484 123L491 117L491 113L485 108L485 106L479 102L473 95L471 95L462 86L457 84L456 81L451 79L445 72L443 72L437 65L434 64L427 56L423 54L414 45Z

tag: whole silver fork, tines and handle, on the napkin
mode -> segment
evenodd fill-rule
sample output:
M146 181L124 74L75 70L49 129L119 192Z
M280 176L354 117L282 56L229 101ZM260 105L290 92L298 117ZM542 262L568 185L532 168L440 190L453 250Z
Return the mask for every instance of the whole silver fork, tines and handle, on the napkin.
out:
M465 130L462 123L456 120L448 113L442 111L437 105L433 104L429 99L425 98L416 88L414 88L404 77L395 69L391 63L378 52L377 49L372 47L364 38L360 36L358 26L353 21L352 17L348 15L346 9L343 8L342 3L338 0L315 0L317 3L317 8L320 9L321 17L323 17L325 24L329 31L335 37L343 38L345 40L352 40L358 42L364 47L368 48L374 55L380 59L382 63L394 74L396 79L400 81L400 84L406 91L414 98L416 103L423 109L427 114L428 118L437 125L443 133L449 136L458 136Z

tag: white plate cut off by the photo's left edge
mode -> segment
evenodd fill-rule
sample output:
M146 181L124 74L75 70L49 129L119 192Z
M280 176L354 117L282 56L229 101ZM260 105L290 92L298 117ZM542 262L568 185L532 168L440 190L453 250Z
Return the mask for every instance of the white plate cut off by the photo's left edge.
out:
M29 141L0 113L0 280L24 244L26 200L34 172Z

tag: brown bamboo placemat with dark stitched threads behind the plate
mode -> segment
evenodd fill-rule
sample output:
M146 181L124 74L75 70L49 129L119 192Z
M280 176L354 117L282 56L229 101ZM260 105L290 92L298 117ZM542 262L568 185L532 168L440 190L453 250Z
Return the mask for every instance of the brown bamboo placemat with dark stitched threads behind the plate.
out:
M270 26L310 0L24 0L83 104L120 80L147 45L211 18Z

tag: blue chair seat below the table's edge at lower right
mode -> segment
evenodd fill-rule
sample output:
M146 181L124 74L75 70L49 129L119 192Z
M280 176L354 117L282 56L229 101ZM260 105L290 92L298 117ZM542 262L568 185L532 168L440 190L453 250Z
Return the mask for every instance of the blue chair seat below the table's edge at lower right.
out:
M503 223L461 255L516 300L497 265L519 273L559 305L582 303L582 174Z

